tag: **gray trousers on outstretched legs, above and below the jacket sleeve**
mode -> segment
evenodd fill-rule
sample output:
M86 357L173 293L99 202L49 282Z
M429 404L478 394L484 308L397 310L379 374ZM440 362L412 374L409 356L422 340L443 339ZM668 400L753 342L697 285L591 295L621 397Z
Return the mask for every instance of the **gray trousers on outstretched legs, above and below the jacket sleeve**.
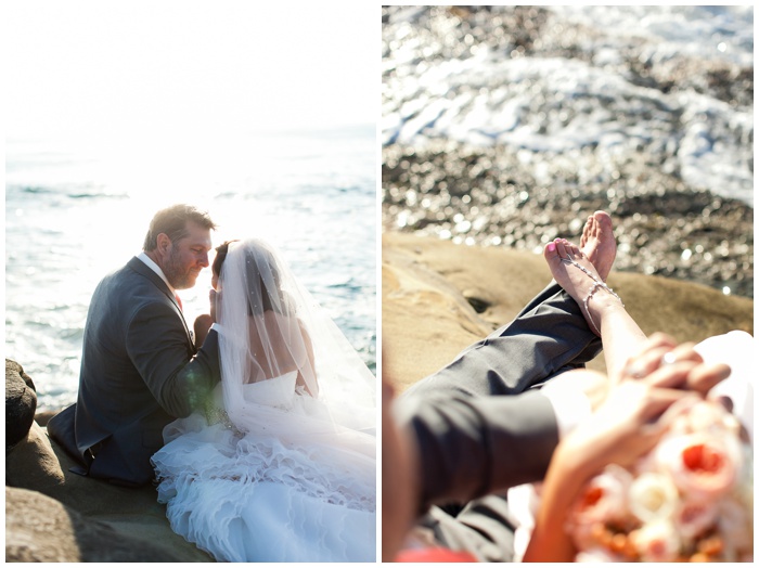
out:
M447 397L519 395L569 369L584 366L600 352L601 339L589 328L579 306L553 282L514 321L466 348L437 373L413 385L401 396L401 400L419 398L426 399L425 402L429 401L432 405L445 405ZM429 423L429 431L435 431L437 422ZM443 434L433 442L445 453L446 442L450 439ZM552 444L557 441L557 433L553 434L553 439ZM425 440L419 439L417 443L425 443ZM451 451L455 452L453 449ZM507 452L507 449L503 451ZM545 452L545 467L552 451ZM439 456L440 463L454 461L455 457ZM433 463L425 467L423 475L435 476L438 472L439 468ZM433 506L420 519L419 526L432 530L442 545L466 550L480 561L513 559L515 525L505 492L474 499L465 504Z

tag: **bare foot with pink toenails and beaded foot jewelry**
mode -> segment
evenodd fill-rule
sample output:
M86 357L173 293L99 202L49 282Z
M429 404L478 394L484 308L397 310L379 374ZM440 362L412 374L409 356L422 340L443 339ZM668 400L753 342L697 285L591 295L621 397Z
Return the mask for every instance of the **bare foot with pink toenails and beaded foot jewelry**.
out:
M603 283L588 256L565 238L549 243L543 256L554 280L582 310L593 332L601 336L601 323L605 310L622 307L619 297Z

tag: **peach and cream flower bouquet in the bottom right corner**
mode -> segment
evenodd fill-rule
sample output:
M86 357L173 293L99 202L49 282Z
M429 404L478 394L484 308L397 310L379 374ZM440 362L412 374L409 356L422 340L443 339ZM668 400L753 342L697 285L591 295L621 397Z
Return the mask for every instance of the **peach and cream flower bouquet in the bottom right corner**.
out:
M577 561L752 561L754 455L716 402L683 410L657 447L609 465L575 503Z

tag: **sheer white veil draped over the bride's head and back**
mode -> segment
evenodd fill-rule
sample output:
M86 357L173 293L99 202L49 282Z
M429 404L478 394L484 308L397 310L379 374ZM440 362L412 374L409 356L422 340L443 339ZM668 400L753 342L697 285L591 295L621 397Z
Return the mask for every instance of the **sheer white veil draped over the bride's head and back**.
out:
M224 409L236 428L285 436L292 429L299 440L346 430L374 436L374 375L272 245L230 243L216 314ZM282 377L294 379L297 421L283 419L281 404L260 400Z

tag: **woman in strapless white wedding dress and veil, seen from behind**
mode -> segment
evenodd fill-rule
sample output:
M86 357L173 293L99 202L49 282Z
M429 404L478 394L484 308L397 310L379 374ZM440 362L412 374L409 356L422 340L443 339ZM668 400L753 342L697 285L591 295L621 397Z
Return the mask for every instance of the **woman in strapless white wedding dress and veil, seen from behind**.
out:
M171 528L217 560L374 561L374 375L260 241L216 298L215 402L153 456Z

